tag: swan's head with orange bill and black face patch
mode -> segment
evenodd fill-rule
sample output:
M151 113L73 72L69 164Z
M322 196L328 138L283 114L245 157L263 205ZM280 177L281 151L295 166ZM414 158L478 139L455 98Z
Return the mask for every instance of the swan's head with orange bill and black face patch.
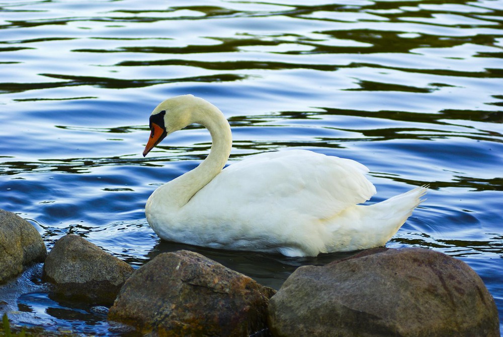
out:
M176 96L166 99L155 107L150 115L150 137L143 157L147 155L166 136L194 123L192 112L199 104L207 103L193 95ZM207 103L209 104L209 103Z

